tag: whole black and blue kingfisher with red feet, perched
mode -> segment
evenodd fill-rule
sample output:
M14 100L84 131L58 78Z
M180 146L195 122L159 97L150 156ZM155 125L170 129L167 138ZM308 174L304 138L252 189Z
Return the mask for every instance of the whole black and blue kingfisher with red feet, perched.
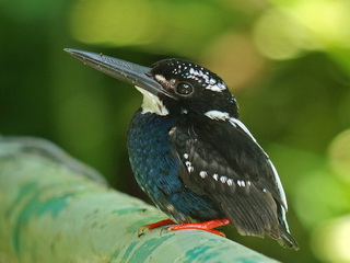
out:
M225 82L197 64L170 58L151 67L65 49L143 95L128 129L135 178L170 219L144 226L171 230L233 225L243 236L269 237L299 249L275 165L247 127Z

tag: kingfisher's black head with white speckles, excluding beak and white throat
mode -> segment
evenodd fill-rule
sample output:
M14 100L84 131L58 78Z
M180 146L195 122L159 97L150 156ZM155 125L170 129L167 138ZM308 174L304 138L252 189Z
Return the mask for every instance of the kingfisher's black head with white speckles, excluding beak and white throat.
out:
M150 76L173 95L159 94L170 113L220 111L237 116L236 101L224 81L197 64L176 58L164 59L152 66Z

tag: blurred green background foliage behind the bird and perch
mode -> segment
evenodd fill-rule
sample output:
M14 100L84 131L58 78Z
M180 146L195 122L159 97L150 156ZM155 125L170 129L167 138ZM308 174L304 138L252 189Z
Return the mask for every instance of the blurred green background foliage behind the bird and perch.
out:
M194 60L226 81L275 162L301 250L229 237L283 262L350 262L349 10L346 0L2 0L0 133L52 140L147 199L126 151L141 95L62 49Z

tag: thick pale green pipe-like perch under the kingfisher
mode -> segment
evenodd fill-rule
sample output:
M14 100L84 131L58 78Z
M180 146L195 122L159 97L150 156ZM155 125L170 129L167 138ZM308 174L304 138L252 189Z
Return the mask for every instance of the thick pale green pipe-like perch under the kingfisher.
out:
M138 237L164 218L49 141L0 137L0 262L277 262L200 230Z

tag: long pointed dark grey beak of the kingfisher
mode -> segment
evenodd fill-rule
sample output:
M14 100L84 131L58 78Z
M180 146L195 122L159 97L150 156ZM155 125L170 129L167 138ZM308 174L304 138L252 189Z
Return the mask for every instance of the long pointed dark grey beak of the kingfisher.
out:
M166 96L174 98L159 82L150 77L151 68L149 67L139 66L137 64L96 53L71 48L65 48L65 52L83 61L85 65L109 75L113 78L140 87L154 95L162 93Z

